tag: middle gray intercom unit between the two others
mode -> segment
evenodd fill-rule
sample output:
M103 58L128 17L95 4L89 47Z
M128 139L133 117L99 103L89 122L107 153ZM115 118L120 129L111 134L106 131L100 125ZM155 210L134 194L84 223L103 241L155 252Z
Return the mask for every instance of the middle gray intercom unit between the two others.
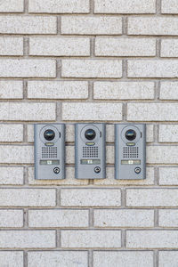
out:
M76 125L76 178L106 178L105 124Z

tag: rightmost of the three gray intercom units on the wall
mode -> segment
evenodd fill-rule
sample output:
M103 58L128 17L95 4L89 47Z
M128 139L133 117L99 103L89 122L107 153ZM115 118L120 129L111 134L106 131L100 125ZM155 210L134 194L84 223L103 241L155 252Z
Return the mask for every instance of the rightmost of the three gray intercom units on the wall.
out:
M115 125L115 178L146 178L146 125Z

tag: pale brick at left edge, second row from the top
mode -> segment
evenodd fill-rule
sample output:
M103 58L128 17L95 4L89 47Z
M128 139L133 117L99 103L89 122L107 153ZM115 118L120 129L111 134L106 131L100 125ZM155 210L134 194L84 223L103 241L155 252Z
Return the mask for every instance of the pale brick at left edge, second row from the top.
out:
M1 16L0 33L14 35L56 34L57 19L52 16Z

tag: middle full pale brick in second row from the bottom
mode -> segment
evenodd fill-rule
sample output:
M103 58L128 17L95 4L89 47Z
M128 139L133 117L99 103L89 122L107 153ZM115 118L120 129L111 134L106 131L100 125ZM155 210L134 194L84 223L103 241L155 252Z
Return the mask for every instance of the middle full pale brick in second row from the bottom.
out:
M61 247L121 247L121 231L61 231Z

